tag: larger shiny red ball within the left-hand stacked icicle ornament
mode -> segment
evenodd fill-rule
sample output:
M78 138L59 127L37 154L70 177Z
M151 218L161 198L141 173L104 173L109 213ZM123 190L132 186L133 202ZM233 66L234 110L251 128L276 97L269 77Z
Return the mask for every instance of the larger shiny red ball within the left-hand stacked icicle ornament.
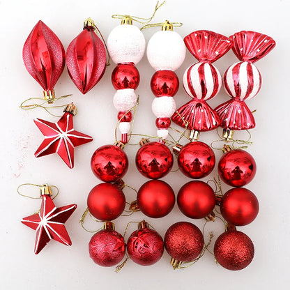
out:
M140 75L134 63L119 63L112 73L112 84L116 90L137 89Z

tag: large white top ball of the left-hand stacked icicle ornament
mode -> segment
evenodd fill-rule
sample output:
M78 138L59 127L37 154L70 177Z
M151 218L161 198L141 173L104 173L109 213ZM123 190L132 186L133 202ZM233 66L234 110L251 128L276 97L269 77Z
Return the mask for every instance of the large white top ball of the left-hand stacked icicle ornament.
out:
M107 40L109 55L114 63L139 63L144 56L145 46L143 33L137 26L130 24L116 26Z

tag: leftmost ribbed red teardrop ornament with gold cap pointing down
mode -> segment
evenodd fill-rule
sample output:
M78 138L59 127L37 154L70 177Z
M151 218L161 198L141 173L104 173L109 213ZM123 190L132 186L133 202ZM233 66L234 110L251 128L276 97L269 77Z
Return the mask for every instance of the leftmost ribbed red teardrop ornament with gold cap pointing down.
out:
M45 90L45 97L54 98L53 89L65 65L61 40L40 20L26 39L22 56L26 70Z

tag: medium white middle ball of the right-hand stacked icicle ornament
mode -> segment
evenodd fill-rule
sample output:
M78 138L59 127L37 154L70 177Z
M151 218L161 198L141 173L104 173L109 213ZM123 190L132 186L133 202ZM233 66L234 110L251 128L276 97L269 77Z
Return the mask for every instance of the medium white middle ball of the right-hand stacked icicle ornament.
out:
M175 110L175 100L172 97L159 97L152 102L152 112L157 118L171 118Z

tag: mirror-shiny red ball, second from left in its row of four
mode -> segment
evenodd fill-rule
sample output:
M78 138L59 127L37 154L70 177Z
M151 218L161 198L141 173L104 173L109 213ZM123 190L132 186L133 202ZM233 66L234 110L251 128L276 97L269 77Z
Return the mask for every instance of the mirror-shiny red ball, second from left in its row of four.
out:
M173 155L169 148L160 142L150 142L139 148L135 158L138 171L151 179L167 175L173 165Z

